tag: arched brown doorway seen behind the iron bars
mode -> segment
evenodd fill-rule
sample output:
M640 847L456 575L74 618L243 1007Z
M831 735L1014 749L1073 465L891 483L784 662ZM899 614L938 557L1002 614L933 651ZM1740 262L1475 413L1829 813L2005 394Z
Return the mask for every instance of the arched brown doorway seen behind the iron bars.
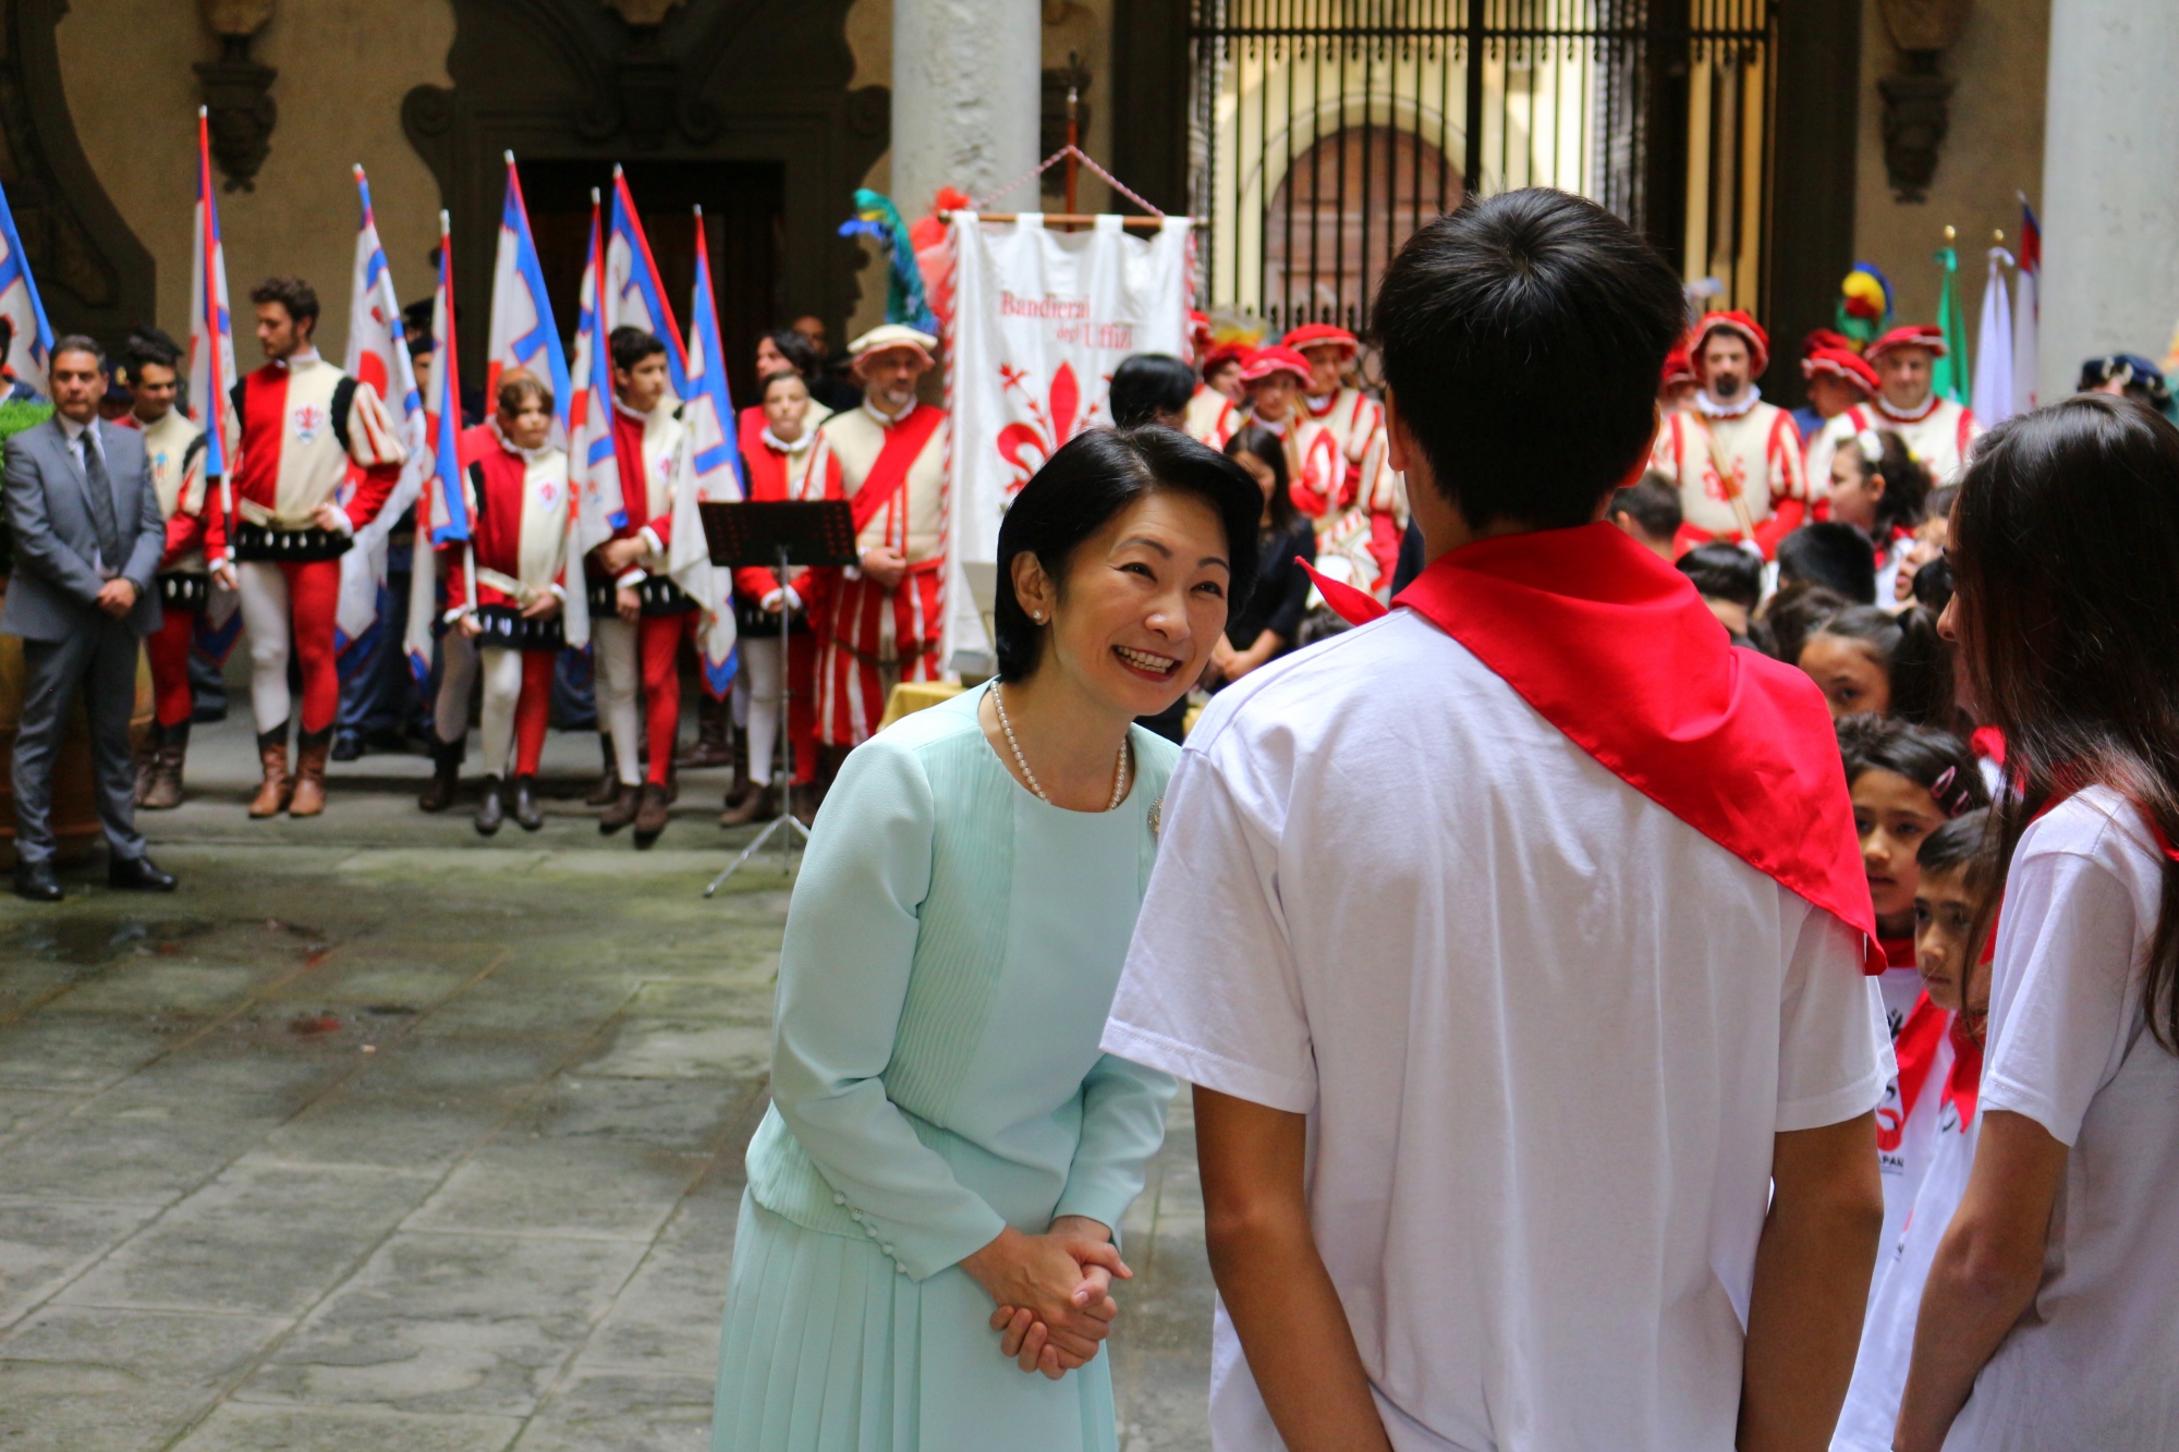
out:
M1392 126L1344 126L1286 168L1264 216L1264 316L1362 327L1401 242L1460 205L1445 153Z

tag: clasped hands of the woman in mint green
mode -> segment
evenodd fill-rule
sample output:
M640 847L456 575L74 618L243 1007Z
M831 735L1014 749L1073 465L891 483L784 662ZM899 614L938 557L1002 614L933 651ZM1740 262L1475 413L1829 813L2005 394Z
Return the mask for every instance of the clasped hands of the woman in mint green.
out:
M1042 1236L1009 1225L961 1269L998 1306L991 1330L1000 1352L1052 1380L1096 1358L1120 1315L1111 1282L1135 1275L1113 1249L1111 1230L1079 1214L1059 1217Z

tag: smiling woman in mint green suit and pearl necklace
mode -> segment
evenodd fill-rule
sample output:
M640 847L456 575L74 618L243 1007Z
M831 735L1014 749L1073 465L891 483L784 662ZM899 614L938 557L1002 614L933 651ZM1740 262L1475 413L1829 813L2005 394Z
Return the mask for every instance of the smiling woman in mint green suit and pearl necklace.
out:
M1113 1245L1161 1073L1098 1051L1174 748L1133 728L1255 578L1262 495L1170 429L1000 528L1000 680L856 748L795 883L715 1452L1111 1452Z

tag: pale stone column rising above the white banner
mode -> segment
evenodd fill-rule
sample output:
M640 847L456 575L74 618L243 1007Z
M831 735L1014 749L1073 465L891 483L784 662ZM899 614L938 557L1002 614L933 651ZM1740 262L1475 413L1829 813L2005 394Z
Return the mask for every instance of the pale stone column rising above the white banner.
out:
M917 220L944 185L985 196L1037 155L1037 0L893 0L893 205ZM1035 211L1024 185L996 211Z

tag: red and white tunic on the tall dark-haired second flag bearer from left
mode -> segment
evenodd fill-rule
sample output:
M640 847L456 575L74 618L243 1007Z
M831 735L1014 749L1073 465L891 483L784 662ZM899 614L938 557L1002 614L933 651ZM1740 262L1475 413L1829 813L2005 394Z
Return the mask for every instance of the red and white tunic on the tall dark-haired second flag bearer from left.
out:
M353 534L377 519L401 482L401 438L377 390L318 353L268 362L242 377L235 414L240 523L272 536L307 532L316 530L318 506L331 504ZM279 549L264 558L279 558Z

